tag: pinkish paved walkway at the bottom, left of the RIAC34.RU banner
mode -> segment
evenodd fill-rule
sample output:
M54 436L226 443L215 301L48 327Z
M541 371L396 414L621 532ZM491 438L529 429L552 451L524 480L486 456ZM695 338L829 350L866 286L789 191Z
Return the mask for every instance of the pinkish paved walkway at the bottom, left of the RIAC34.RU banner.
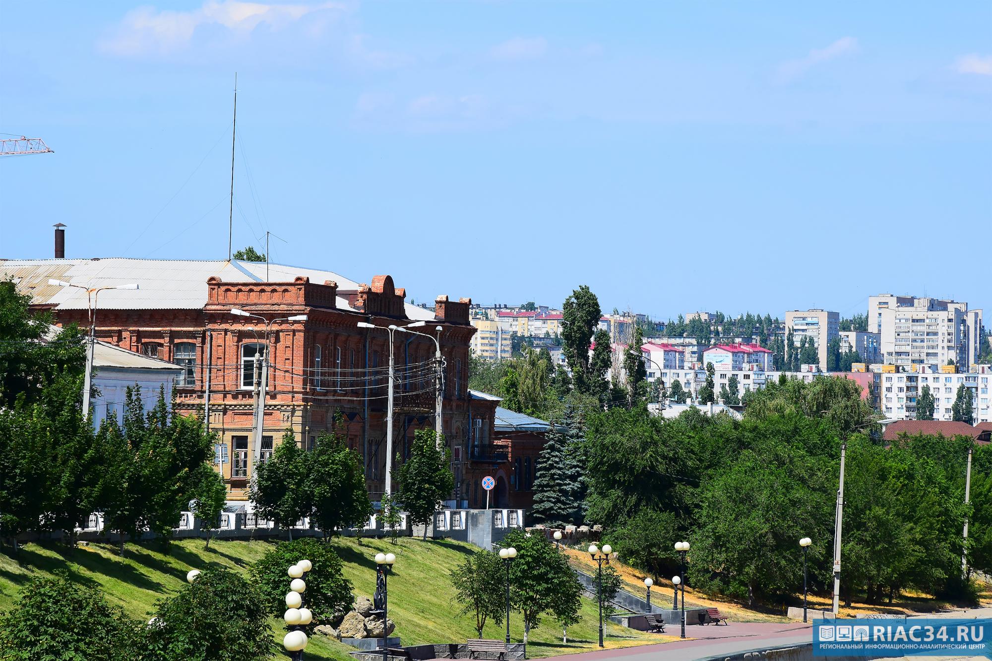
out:
M666 633L679 633L679 628L669 627ZM753 649L767 649L812 641L812 625L803 622L730 622L726 626L687 626L686 640L640 645L621 649L569 654L568 661L689 661L710 656L729 655Z

